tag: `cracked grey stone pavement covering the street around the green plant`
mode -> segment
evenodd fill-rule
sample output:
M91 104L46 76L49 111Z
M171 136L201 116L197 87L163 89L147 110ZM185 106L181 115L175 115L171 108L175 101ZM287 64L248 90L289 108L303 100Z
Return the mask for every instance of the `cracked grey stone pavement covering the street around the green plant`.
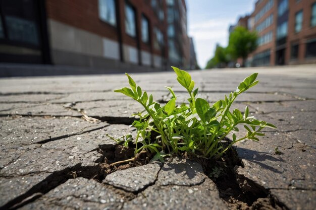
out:
M314 209L316 65L190 74L198 97L214 103L254 72L259 84L233 108L247 105L278 128L266 129L258 143L236 145L241 165L232 181L258 195L256 206L264 206L264 194L276 203L268 209ZM166 103L164 86L172 86L178 102L186 102L173 72L131 76L155 101ZM202 166L184 158L95 179L115 145L106 134L135 135L128 125L141 106L113 92L127 85L124 75L0 79L0 209L228 209Z

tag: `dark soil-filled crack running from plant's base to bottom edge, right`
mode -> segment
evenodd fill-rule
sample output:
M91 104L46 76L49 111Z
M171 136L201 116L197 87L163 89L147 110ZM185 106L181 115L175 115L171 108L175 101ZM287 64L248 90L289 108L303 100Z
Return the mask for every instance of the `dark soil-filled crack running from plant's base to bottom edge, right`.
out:
M230 210L286 209L277 204L267 190L259 186L250 186L256 189L256 193L241 190L235 171L242 164L234 148L229 149L219 160L197 159L196 161L202 165L204 173L215 182L220 197Z

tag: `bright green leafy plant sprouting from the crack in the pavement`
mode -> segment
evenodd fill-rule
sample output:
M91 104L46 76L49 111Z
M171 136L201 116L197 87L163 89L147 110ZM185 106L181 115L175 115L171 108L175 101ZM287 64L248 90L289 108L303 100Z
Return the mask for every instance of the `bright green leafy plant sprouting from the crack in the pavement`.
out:
M260 132L264 127L275 128L271 123L248 116L248 107L245 108L244 114L238 109L230 110L238 95L259 82L255 80L257 73L247 77L237 90L225 96L224 100L210 106L206 100L196 98L198 88L194 89L195 84L189 73L177 67L173 69L178 82L188 92L188 105L177 105L177 97L169 87L166 88L172 95L170 101L165 105L154 102L152 95L148 96L142 91L128 74L126 76L130 88L115 90L139 102L146 111L144 114L138 113L139 119L132 124L137 128L135 156L146 150L155 153L153 160L161 161L166 154L181 152L205 159L218 158L243 139L259 141L256 136L264 135ZM233 131L239 130L239 124L244 125L247 134L237 138ZM232 141L227 141L225 137L231 133Z

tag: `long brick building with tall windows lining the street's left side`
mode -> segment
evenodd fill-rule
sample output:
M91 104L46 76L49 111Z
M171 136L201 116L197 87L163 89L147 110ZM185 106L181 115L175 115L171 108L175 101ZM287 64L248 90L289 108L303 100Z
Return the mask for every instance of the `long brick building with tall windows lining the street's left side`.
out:
M184 0L10 0L0 6L0 62L130 72L190 68Z

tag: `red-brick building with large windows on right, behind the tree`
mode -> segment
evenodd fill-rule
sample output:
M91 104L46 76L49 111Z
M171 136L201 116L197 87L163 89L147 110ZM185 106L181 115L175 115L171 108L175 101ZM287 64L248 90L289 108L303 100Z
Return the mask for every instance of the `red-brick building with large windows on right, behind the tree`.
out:
M247 28L259 36L248 66L316 63L315 0L258 0Z

